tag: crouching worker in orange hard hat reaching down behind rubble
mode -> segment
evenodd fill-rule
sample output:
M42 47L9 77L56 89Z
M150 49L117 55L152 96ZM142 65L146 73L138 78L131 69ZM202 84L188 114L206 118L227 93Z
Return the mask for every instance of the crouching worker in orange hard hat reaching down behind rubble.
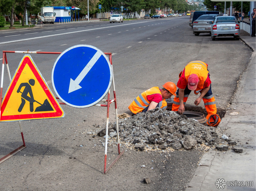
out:
M128 108L134 114L146 112L156 107L166 109L165 99L171 98L172 95L176 96L176 90L177 87L173 82L166 82L162 89L157 86L151 87L136 97Z

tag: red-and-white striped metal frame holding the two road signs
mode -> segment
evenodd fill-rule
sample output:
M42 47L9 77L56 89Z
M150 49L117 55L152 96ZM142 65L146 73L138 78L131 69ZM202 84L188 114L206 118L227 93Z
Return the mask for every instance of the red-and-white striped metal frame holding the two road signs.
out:
M11 75L9 71L9 66L7 62L7 56L6 53L23 53L23 54L61 54L61 52L31 52L31 51L3 51L3 63L2 63L2 75L1 75L1 89L0 89L0 111L1 111L1 105L2 105L2 90L3 90L3 71L4 71L4 63L7 65L7 71L9 75L9 79L11 81ZM116 90L115 90L115 83L114 83L114 72L113 72L113 65L112 65L112 53L104 53L105 55L109 56L109 62L112 68L112 86L113 86L113 94L114 94L114 99L110 100L110 90L108 90L107 93L107 99L102 99L101 101L107 101L107 105L102 105L102 104L95 104L94 106L101 106L101 107L107 107L107 123L106 123L106 141L105 141L105 158L104 158L104 174L108 172L108 170L111 169L111 167L116 163L116 161L121 157L121 155L124 154L124 151L120 152L120 142L119 142L119 129L118 129L118 118L117 118L117 102L116 102ZM56 97L59 99L58 97ZM106 160L107 160L107 139L108 139L108 121L109 121L109 107L111 103L115 103L115 115L116 115L116 133L117 133L117 146L118 146L118 156L117 158L106 168ZM66 105L66 103L59 103L62 105ZM22 149L26 148L25 146L25 141L23 137L23 132L22 132L22 127L21 123L20 124L20 129L21 129L21 136L22 136L22 142L23 145L20 146L19 148L13 150L9 154L5 155L0 159L0 163L7 160L10 158L12 155L15 153L21 151Z

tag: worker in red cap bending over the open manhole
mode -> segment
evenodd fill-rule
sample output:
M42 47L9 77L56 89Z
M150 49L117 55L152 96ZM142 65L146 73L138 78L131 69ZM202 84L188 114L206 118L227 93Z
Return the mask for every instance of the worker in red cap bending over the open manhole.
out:
M173 100L172 110L182 114L185 111L184 105L190 92L194 91L196 95L200 92L200 96L195 100L194 104L198 106L201 99L203 99L208 113L206 117L207 124L210 126L218 126L220 117L217 114L215 98L212 95L211 80L209 76L208 65L206 63L200 60L188 63L179 74L179 80L177 82L178 90L176 92L177 95ZM209 118L210 120L208 120ZM211 121L211 123L209 123L209 121Z

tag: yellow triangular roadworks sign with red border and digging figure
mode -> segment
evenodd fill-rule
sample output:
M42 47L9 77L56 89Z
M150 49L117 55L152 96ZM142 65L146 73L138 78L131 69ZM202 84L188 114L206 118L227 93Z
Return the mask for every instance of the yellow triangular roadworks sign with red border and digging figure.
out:
M65 112L31 56L23 56L1 105L0 121L62 118Z

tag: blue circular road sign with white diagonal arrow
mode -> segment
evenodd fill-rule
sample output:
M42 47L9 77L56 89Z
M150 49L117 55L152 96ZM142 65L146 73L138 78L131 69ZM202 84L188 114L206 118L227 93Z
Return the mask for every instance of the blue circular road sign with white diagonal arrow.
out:
M91 107L101 101L111 86L112 77L108 58L91 45L75 45L62 52L51 72L57 96L77 108Z

